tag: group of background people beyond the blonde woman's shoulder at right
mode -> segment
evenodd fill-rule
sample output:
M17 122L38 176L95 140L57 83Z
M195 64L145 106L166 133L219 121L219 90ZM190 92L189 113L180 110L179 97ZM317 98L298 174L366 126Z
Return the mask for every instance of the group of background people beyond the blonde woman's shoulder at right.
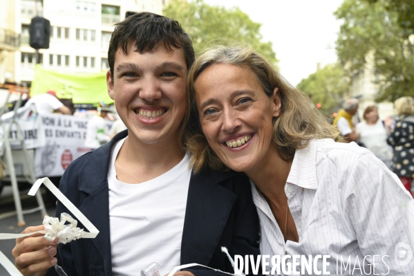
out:
M346 99L343 109L333 120L333 125L346 142L355 141L359 146L372 151L413 195L414 98L407 96L395 100L397 116L388 116L384 120L379 119L378 107L369 105L364 109L364 120L359 122L358 107L357 99Z

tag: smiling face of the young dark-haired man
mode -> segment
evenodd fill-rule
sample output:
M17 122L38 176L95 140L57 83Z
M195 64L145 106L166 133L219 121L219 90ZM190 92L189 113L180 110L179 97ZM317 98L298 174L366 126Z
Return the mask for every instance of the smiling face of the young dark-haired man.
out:
M182 49L167 51L159 43L150 52L138 53L131 42L127 55L117 50L113 76L109 71L106 82L130 137L144 144L178 142L187 110Z

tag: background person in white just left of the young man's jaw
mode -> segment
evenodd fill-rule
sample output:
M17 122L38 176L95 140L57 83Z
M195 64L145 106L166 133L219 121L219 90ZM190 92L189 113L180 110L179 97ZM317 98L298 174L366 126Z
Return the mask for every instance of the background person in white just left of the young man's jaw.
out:
M85 147L97 149L111 140L106 131L106 116L111 110L108 107L101 107L98 109L96 115L88 120L86 128Z

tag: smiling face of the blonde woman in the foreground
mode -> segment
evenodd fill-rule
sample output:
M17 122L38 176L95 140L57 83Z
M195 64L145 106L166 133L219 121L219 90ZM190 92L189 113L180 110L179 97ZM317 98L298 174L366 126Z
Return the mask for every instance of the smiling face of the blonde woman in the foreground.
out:
M211 64L195 82L200 124L210 147L227 167L249 172L270 160L278 89L268 97L250 68Z

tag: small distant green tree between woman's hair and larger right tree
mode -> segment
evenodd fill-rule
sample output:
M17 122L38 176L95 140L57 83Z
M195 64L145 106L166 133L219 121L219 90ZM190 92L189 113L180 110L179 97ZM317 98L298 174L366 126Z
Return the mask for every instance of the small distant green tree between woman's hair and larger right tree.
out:
M307 93L314 104L321 104L321 111L330 115L349 89L349 78L339 64L328 64L301 80L297 88Z

